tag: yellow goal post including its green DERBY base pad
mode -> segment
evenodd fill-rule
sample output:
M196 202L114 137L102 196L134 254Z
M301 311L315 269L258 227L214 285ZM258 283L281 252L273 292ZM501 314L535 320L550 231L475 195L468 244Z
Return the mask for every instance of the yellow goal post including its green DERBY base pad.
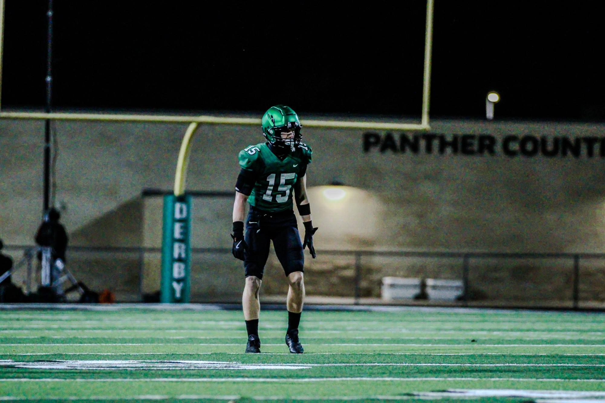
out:
M431 76L431 47L433 44L433 1L427 0L427 21L425 31L425 54L422 86L422 118L420 123L385 123L365 121L302 120L304 127L375 129L401 131L428 131L430 129L429 94ZM2 44L4 43L4 0L0 0L0 94L2 90ZM1 101L1 100L0 100ZM134 114L85 114L85 113L40 113L2 112L0 119L24 120L79 120L146 123L189 123L180 151L174 179L174 195L164 198L164 219L162 237L162 281L160 301L164 303L189 302L189 267L191 266L191 246L189 245L190 195L185 192L185 181L191 140L200 124L232 124L260 126L260 118L181 116L181 115L134 115Z

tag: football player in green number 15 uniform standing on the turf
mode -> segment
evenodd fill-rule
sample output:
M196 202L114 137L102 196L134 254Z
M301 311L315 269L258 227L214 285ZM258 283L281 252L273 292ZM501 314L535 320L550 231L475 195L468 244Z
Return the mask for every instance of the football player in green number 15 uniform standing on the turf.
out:
M311 223L311 209L307 198L307 165L312 150L301 143L301 124L298 115L289 106L272 106L263 115L265 143L255 144L240 151L240 175L235 184L233 206L232 253L244 261L246 285L242 297L244 319L248 332L247 353L260 353L258 315L260 302L258 291L269 242L273 241L275 254L286 274L289 290L287 296L288 329L286 344L291 353L302 353L298 339L298 324L304 299L303 269L307 247L315 259L313 234L317 228ZM305 228L301 243L298 225L293 211L292 196ZM246 199L250 211L246 219L244 235L244 210Z

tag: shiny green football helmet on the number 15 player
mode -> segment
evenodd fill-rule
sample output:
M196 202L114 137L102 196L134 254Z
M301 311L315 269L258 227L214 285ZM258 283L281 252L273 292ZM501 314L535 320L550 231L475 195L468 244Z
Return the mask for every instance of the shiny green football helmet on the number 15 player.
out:
M264 113L262 123L264 137L276 149L293 152L300 144L301 122L289 106L272 106ZM281 137L281 134L290 131L294 133L293 138Z

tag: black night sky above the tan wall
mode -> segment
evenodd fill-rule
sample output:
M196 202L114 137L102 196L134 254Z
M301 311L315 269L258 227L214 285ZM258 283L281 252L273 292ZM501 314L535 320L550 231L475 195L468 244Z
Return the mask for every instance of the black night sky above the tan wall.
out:
M605 121L605 2L436 0L431 117ZM47 1L6 0L2 108L45 105ZM426 3L54 1L56 110L419 117Z

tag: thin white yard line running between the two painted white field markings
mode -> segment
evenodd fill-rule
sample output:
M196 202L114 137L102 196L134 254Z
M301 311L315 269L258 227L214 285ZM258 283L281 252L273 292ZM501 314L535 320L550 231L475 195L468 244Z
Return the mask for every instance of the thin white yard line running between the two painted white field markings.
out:
M340 382L340 381L368 381L368 382L418 382L418 381L520 381L520 382L603 382L605 379L564 379L564 378L0 378L0 382Z

